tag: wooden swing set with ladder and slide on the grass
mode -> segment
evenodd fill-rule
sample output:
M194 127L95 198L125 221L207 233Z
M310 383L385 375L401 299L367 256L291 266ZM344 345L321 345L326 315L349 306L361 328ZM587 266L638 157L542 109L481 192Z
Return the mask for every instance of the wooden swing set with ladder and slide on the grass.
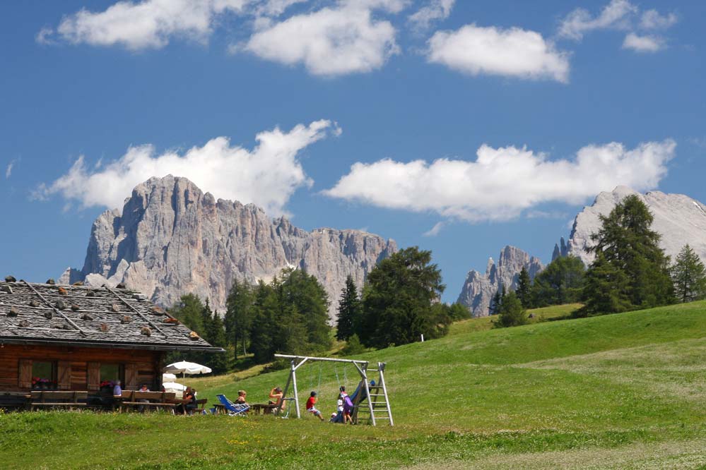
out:
M282 405L285 400L293 401L295 410L297 412L297 418L301 418L299 409L299 397L297 389L297 370L307 362L332 362L334 363L334 370L336 371L336 381L341 384L339 380L339 371L336 368L336 363L343 364L353 364L355 370L360 375L360 382L358 387L350 395L351 401L353 402L353 411L351 412L351 418L353 423L357 424L359 421L367 421L372 424L372 426L377 426L377 421L387 421L390 426L394 426L394 421L392 421L392 410L390 409L389 399L387 396L387 385L385 385L384 370L385 363L378 362L377 368L369 368L369 361L355 361L353 359L336 359L329 357L312 357L312 356L290 356L288 354L275 354L277 358L288 359L290 361L289 376L287 378L287 385L285 385L282 391L282 399L275 409L276 414L279 414ZM374 380L368 373L377 372L378 378ZM322 376L322 364L319 364L319 383L317 384L317 395L321 387L321 376ZM347 380L346 369L343 369L343 380ZM286 398L287 392L289 391L289 386L293 387L293 398ZM313 377L311 378L310 385L313 385ZM313 387L311 387L313 390ZM363 414L363 416L359 416Z

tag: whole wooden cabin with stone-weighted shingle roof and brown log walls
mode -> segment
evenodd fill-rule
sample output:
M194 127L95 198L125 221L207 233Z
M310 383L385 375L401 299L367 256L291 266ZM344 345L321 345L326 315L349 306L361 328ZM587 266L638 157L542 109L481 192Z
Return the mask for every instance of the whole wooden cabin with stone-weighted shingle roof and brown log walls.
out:
M165 354L194 350L223 352L137 292L0 282L0 405L30 390L110 392L117 380L160 390Z

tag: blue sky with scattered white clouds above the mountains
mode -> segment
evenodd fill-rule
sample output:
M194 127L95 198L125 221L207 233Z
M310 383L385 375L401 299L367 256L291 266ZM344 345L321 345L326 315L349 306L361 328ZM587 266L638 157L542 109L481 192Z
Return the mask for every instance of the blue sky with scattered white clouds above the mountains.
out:
M81 267L93 219L153 171L430 249L447 301L505 244L548 261L616 184L706 200L704 2L0 8L0 266L16 277Z

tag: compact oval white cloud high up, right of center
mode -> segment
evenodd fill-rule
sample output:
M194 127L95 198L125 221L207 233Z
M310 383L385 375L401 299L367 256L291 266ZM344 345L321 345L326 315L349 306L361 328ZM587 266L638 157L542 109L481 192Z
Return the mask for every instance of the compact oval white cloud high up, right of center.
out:
M428 61L471 75L568 81L568 54L555 49L539 32L466 25L436 32L428 46Z

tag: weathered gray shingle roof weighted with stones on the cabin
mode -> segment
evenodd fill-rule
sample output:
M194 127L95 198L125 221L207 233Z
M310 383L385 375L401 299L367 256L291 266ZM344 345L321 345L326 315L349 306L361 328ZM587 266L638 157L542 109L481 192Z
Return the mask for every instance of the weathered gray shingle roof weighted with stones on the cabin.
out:
M0 282L3 342L222 351L135 291L25 281Z

